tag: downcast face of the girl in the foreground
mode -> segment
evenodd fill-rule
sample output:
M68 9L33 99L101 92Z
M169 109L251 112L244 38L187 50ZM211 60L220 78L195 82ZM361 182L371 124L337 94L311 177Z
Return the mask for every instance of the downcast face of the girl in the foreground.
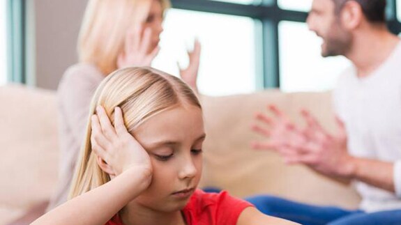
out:
M140 125L135 138L153 166L151 185L135 203L161 212L181 210L202 174L202 110L187 104L162 111Z

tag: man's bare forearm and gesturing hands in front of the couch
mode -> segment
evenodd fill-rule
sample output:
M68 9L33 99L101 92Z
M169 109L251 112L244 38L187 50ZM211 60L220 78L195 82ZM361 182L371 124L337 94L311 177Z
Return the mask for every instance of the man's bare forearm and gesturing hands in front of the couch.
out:
M394 171L400 171L392 162L365 159L349 155L345 127L337 119L338 133L331 135L317 120L303 111L307 127L301 130L275 107L270 107L275 118L258 114L257 118L269 128L255 125L254 130L268 137L253 144L257 149L271 149L280 153L289 164L305 164L319 173L336 178L361 180L381 189L395 192ZM401 146L400 146L401 147ZM400 178L401 180L401 178Z

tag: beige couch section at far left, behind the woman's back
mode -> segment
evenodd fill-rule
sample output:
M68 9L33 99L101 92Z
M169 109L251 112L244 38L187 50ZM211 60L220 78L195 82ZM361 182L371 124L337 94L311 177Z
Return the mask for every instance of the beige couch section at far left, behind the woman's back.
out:
M28 208L49 199L59 146L54 91L0 87L0 205Z

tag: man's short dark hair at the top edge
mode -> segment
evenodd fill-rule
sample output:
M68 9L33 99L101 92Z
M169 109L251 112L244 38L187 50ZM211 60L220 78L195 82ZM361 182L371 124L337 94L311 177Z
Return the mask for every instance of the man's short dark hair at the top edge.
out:
M386 22L386 0L333 0L336 15L340 14L347 1L356 1L361 6L363 15L369 22Z

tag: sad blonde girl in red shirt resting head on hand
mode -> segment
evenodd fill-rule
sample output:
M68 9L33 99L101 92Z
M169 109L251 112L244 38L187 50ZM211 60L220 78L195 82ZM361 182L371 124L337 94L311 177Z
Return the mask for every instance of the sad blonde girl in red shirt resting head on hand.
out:
M98 87L91 115L73 199L33 224L292 224L227 192L197 189L202 109L180 79L117 70Z

